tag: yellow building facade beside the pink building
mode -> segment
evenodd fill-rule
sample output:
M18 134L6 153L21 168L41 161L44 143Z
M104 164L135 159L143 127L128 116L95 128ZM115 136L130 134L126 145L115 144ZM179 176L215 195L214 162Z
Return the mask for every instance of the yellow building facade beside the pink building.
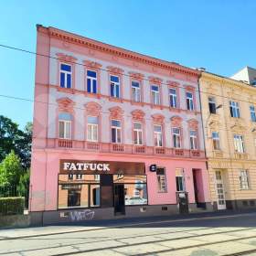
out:
M212 204L256 207L256 88L208 72L199 84Z

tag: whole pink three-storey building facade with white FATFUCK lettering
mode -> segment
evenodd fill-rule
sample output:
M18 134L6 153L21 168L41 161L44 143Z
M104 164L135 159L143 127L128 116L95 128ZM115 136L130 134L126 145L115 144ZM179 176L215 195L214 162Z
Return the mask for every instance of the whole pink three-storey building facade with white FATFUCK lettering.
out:
M37 26L32 222L210 210L198 77Z

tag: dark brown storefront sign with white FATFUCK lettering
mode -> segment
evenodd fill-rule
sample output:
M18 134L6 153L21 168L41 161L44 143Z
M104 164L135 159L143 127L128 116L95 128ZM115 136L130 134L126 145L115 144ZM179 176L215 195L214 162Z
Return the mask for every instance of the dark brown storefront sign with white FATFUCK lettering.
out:
M144 163L61 159L61 174L144 175Z

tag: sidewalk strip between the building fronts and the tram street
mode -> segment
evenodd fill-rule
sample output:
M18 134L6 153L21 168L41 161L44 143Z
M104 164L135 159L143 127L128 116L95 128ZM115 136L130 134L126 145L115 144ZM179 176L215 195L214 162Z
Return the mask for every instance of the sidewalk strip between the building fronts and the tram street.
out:
M255 210L232 211L225 210L221 212L193 213L188 215L175 215L169 217L150 217L133 219L110 219L110 220L90 220L76 224L66 224L58 226L47 226L25 229L2 229L0 230L0 240L16 240L21 238L48 236L55 234L75 233L81 231L91 231L97 229L114 229L125 227L136 227L140 225L149 225L165 222L193 221L196 219L222 219L236 217L240 215L251 215Z

